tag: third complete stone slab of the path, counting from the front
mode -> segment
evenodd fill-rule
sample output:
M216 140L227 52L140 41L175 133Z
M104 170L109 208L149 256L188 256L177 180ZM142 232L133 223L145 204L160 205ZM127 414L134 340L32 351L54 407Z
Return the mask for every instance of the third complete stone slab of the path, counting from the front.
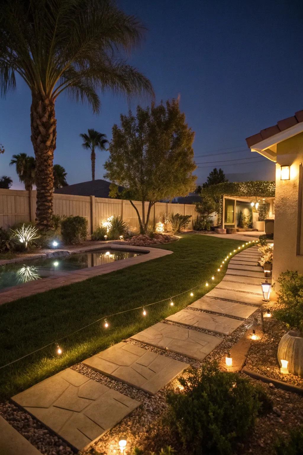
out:
M200 361L222 341L222 338L213 335L162 322L148 327L131 338Z

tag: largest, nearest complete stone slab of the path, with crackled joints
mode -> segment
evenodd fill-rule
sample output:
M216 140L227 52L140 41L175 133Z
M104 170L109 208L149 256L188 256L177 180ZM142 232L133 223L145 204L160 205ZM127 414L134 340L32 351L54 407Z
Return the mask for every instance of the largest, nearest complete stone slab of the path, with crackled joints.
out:
M12 400L76 450L87 447L140 405L70 368Z

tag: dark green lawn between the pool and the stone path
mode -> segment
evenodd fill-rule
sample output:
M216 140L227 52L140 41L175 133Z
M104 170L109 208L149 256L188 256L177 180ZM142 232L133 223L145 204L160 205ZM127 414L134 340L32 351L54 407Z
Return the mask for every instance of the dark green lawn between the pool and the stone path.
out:
M169 302L108 318L26 359L0 369L0 397L7 398L32 384L119 342L184 308L214 287L224 275L217 272L224 257L243 242L204 235L184 234L175 243L160 248L174 253L0 306L0 365L55 342L102 316L147 305L181 293L210 279L194 290ZM216 276L212 282L211 276ZM221 278L220 278L221 277Z

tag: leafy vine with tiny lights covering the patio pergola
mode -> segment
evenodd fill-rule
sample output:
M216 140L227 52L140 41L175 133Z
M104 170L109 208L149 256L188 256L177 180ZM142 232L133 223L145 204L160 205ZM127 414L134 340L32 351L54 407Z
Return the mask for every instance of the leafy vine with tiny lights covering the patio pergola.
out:
M213 197L219 202L218 209L218 225L222 222L223 215L223 196L238 196L238 197L274 197L275 182L257 180L255 182L223 182L218 185L212 185L203 188L201 196Z

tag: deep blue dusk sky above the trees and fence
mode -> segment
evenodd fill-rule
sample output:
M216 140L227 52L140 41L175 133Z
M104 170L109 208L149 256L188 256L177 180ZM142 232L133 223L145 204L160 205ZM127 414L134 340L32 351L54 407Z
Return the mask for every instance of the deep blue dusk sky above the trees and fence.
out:
M256 156L240 161L245 165L236 165L237 161L199 164L209 167L197 169L197 183L220 165L233 180L272 178L274 165L268 160L248 164L262 157L248 151L245 137L303 109L303 7L294 1L118 3L148 29L129 60L152 81L156 101L181 96L181 109L196 133L196 162ZM30 101L30 91L20 80L15 93L0 100L0 143L5 146L0 175L12 177L15 188L23 185L9 167L11 155L34 154ZM136 107L136 100L130 107ZM65 167L70 184L91 179L89 152L81 147L79 133L95 128L110 139L112 125L128 108L123 98L108 94L102 96L101 113L94 116L88 106L65 95L58 98L55 163ZM228 147L243 152L217 154ZM199 158L202 154L209 157ZM107 152L98 152L96 178L103 178L107 157Z

